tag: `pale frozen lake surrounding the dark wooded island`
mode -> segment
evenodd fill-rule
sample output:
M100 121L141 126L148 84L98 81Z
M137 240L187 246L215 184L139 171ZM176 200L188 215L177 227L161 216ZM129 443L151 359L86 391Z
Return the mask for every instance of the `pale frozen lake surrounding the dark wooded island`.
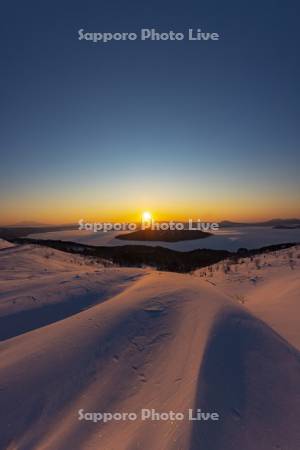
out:
M124 233L127 233L127 231ZM31 234L28 237L34 239L72 241L79 244L96 246L151 245L154 247L167 247L178 251L189 251L199 248L236 251L240 247L252 249L266 245L300 242L300 229L280 230L272 227L222 228L214 236L181 242L123 241L116 239L116 236L119 234L122 233L120 231L94 233L93 231L84 230L66 230Z

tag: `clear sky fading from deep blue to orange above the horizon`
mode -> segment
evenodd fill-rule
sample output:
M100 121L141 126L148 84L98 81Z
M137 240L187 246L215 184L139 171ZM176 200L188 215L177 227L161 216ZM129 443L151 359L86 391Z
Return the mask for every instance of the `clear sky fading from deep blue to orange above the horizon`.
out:
M2 2L0 223L300 216L298 1ZM78 30L218 42L78 40Z

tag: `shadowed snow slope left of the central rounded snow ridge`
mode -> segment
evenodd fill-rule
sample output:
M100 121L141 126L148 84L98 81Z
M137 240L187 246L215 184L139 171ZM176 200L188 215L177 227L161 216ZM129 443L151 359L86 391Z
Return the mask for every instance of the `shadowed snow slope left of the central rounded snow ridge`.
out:
M26 245L0 255L0 340L62 320L122 291L144 271Z

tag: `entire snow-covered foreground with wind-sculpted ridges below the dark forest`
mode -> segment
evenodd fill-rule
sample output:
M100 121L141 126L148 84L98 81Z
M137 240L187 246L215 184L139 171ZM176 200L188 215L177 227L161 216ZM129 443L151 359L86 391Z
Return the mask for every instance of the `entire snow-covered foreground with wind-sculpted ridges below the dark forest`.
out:
M299 256L182 275L2 248L0 448L298 450Z

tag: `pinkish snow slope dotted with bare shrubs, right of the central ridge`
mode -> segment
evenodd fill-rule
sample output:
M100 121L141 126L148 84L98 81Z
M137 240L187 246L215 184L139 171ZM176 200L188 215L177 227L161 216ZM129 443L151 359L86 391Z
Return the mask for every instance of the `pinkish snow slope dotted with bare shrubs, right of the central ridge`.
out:
M300 349L300 246L195 272Z

